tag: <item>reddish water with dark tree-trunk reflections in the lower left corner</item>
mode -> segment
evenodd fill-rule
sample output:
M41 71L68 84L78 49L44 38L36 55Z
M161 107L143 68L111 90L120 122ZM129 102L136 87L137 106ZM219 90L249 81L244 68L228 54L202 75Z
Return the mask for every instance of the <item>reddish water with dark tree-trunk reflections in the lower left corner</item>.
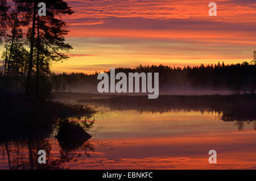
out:
M59 122L56 124L60 124ZM87 122L87 120L84 122ZM88 125L92 127L93 121ZM68 169L65 163L77 161L81 156L81 153L77 152L77 150L82 150L84 155L88 157L90 153L93 153L94 147L92 142L89 141L90 134L84 131L82 134L86 136L81 137L81 133L69 132L67 134L68 138L63 138L59 136L61 132L56 130L56 125L53 125L52 128L51 134L48 133L49 136L42 137L40 133L35 136L34 132L27 132L26 137L24 137L24 134L20 134L22 133L21 131L19 134L15 134L15 137L2 139L0 150L2 156L7 158L9 169ZM57 132L56 136L54 135L55 132ZM55 144L53 141L57 141L59 145L57 149L59 153L57 155L51 154L52 145ZM38 163L39 150L46 151L46 164Z

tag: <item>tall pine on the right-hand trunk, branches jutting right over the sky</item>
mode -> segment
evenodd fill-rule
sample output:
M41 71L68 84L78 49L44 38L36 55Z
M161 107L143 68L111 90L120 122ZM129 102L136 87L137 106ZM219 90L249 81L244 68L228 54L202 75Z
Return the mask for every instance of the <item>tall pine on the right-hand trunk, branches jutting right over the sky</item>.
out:
M61 14L73 14L71 7L63 1L47 1L47 16L37 15L36 39L36 95L39 96L39 75L49 73L49 62L63 61L69 58L60 50L69 50L71 45L65 43L68 34L65 22L56 17Z

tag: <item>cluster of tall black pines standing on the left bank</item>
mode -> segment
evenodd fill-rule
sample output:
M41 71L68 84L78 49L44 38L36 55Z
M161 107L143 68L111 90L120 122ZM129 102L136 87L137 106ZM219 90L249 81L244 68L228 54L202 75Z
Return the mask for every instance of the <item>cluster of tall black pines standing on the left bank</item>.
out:
M65 43L68 30L60 15L73 11L63 0L45 0L46 16L40 16L37 0L0 1L0 44L2 94L51 95L49 64L64 61L71 49Z

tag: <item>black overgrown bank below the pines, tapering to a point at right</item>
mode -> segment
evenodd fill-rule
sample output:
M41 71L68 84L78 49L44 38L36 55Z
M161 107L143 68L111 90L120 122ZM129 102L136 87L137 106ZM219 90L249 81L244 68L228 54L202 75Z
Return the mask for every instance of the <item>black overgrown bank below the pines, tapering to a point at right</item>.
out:
M92 108L49 101L5 99L0 106L0 142L23 138L47 137L53 125L63 119L92 117Z

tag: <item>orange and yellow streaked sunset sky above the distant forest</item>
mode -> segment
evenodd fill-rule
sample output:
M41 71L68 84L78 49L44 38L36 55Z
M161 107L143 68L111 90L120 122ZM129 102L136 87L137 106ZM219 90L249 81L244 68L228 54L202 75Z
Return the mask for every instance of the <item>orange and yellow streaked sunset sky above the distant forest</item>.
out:
M138 65L232 64L253 59L255 0L68 0L61 16L73 47L55 73L94 73ZM217 16L209 16L210 2Z

